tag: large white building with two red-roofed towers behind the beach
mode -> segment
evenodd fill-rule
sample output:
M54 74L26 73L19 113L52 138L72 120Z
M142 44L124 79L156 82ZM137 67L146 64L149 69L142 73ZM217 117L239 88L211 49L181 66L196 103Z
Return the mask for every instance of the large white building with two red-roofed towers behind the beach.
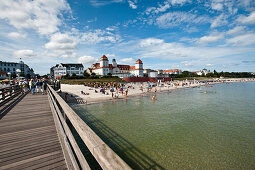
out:
M93 64L90 68L88 68L87 72L89 74L95 73L97 75L113 75L118 77L143 77L143 63L140 59L138 59L135 63L135 66L130 65L120 65L117 64L116 60L112 60L112 64L109 64L108 58L103 55L100 58L99 63Z

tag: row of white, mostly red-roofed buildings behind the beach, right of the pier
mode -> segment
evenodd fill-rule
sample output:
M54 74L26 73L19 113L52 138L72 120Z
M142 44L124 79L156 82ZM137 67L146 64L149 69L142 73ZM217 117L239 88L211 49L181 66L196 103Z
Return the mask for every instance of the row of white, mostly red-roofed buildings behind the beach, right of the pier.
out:
M50 69L50 76L53 78L61 78L65 75L72 76L73 74L77 76L82 76L84 72L88 74L96 74L101 76L118 76L120 78L123 77L170 77L173 74L182 74L182 70L180 69L172 69L172 70L152 70L152 69L144 69L142 60L138 59L133 66L118 64L116 59L112 59L112 63L109 63L108 58L103 55L100 58L98 63L94 63L88 69L84 69L82 64L57 64L56 66ZM199 76L206 75L210 71L207 69L203 69L200 71L194 71L191 73L195 73Z

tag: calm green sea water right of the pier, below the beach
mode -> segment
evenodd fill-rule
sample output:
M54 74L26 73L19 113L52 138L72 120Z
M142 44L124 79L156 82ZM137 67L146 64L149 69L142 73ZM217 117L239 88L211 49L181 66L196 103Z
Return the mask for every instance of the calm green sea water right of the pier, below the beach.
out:
M73 106L133 169L255 169L255 82Z

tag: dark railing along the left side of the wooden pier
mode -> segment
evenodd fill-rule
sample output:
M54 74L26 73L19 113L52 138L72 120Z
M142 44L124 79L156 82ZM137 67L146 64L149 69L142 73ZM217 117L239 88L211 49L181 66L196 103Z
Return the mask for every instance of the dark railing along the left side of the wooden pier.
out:
M10 101L13 97L21 93L21 88L18 85L12 85L0 89L0 106Z

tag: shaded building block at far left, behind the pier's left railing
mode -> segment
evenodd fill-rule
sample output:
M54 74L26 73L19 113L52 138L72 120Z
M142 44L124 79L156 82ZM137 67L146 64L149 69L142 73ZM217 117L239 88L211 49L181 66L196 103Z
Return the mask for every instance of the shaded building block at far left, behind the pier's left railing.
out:
M9 75L23 75L24 77L34 77L34 70L30 68L27 64L25 64L23 61L20 61L18 63L16 62L5 62L0 61L0 79L5 79Z

